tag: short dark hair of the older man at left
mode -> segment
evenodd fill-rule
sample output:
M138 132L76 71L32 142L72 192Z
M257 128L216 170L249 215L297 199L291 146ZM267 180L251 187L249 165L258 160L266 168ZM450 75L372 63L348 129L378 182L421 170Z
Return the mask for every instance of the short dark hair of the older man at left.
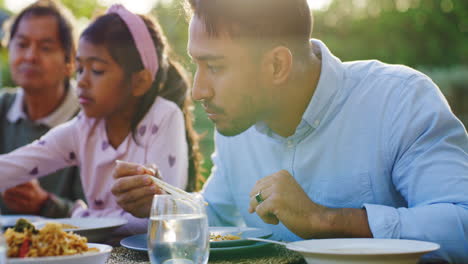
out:
M7 34L7 45L9 45L9 42L15 37L21 20L30 16L54 17L57 21L60 44L65 52L65 62L70 63L75 59L75 39L71 26L73 15L68 9L54 0L39 0L27 6L16 15L11 22L9 34ZM66 78L65 88L68 89L69 87L70 79Z

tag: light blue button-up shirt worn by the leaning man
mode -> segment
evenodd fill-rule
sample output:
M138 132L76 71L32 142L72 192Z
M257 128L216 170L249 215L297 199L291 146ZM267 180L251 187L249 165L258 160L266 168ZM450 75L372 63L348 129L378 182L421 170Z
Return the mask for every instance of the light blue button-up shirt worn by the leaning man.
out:
M322 71L292 136L262 123L234 137L215 134L204 188L210 224L300 239L248 212L255 182L285 169L316 203L366 208L375 238L436 242L432 256L468 263L468 137L437 86L401 65L342 63L312 43Z

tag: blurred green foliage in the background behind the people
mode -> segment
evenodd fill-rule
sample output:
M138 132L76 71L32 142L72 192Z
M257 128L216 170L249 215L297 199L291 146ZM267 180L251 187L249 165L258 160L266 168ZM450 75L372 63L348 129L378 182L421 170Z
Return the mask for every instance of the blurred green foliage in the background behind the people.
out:
M309 0L312 2L314 0ZM8 14L0 0L0 20ZM82 29L104 6L98 0L62 0ZM183 0L156 1L156 16L177 56L191 72L186 53L187 20ZM3 13L3 15L2 15ZM378 59L404 64L429 75L453 111L468 124L468 1L467 0L331 0L314 10L313 38L324 41L342 61ZM0 87L12 86L6 51L0 54ZM206 174L211 168L213 126L197 107L196 129L204 135Z

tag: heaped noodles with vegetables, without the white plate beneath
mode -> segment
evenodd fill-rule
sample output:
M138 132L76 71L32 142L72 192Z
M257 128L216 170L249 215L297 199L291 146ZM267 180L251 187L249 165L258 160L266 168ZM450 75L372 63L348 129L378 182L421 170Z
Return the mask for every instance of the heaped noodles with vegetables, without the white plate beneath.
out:
M26 219L20 218L13 228L5 231L4 236L9 258L64 256L99 251L88 248L86 237L65 232L58 223L46 223L38 230Z

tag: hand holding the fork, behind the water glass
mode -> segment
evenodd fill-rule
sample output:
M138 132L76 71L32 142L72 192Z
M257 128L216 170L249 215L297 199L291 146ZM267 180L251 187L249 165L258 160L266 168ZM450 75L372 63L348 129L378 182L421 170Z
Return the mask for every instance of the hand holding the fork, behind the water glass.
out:
M151 179L153 176L159 177L155 166L147 168L135 163L117 162L111 191L119 206L136 217L149 217L153 196L162 193Z

